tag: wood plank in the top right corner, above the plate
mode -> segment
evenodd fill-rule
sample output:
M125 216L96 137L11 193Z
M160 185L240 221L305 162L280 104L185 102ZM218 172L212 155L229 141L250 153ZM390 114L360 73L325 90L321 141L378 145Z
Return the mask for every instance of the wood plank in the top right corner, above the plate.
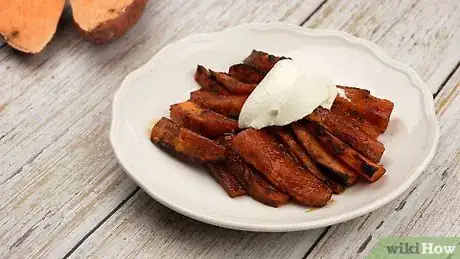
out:
M457 0L329 0L304 26L342 30L377 43L413 67L433 93L460 60Z

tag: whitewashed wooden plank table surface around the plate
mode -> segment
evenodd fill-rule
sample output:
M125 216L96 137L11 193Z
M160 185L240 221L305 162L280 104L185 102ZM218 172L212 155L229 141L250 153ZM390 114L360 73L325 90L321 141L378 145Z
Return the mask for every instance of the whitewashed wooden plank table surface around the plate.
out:
M460 1L151 0L109 46L63 20L40 55L0 43L0 258L359 258L383 236L460 235ZM169 42L252 21L343 30L421 75L442 134L407 192L339 225L251 233L179 215L127 177L108 141L121 80Z

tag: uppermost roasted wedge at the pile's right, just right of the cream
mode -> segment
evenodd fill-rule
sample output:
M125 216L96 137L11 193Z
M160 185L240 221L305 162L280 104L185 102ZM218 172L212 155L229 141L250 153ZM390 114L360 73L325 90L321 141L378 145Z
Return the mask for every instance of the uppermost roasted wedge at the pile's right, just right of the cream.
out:
M391 101L374 97L368 90L346 86L338 87L345 91L345 95L350 100L339 97L336 102L338 101L342 106L348 106L360 113L366 120L375 125L380 133L385 132L394 108Z

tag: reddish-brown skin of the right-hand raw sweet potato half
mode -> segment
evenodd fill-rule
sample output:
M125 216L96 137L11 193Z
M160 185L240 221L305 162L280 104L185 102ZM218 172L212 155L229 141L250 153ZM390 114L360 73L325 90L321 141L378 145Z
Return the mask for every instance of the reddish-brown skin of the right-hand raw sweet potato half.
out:
M75 0L70 1L72 9ZM116 18L104 21L90 30L83 29L74 16L74 24L78 31L89 41L96 44L106 44L120 38L131 29L141 17L147 0L132 0L132 2ZM107 10L110 11L110 10Z

